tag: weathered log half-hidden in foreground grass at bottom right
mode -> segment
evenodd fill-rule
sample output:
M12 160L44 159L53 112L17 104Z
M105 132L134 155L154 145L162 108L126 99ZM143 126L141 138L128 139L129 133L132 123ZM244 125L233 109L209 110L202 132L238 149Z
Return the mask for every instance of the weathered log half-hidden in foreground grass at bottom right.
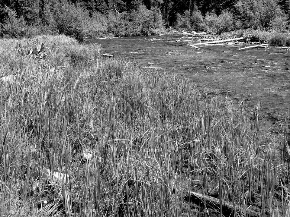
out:
M211 197L211 196L207 196L207 195L203 195L201 193L196 193L196 192L193 192L193 191L190 191L189 192L190 194L190 197L191 198L197 198L198 200L200 200L202 203L206 203L210 206L212 206L212 208L214 209L220 209L220 200L218 198L215 198L215 197ZM222 207L224 210L224 212L232 212L232 213L237 213L237 212L241 212L241 213L244 213L244 208L242 206L234 206L228 202L224 202L222 204ZM260 216L260 213L257 212L257 211L253 211L253 210L249 210L247 209L246 210L247 212L247 216L251 216L251 217L259 217Z

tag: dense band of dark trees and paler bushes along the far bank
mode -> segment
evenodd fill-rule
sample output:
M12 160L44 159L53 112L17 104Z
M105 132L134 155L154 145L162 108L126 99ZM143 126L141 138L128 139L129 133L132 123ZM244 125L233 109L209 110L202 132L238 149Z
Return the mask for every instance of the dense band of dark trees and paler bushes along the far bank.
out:
M290 0L2 0L1 36L150 35L173 26L221 33L288 27Z

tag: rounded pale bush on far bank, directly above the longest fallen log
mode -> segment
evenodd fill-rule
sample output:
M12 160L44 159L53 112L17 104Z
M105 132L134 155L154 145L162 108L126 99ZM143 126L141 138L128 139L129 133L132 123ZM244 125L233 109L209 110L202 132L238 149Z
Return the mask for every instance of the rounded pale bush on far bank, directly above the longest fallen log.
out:
M234 16L228 11L223 11L220 15L215 12L207 13L204 19L205 27L208 31L220 34L237 28Z

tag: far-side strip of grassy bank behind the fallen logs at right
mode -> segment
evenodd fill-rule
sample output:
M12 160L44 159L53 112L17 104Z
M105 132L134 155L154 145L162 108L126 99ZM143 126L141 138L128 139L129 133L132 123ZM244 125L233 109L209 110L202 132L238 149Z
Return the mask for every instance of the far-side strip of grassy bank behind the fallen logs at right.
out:
M222 33L223 37L245 37L244 42L260 42L261 44L269 43L270 46L290 46L290 31L277 30L235 30Z

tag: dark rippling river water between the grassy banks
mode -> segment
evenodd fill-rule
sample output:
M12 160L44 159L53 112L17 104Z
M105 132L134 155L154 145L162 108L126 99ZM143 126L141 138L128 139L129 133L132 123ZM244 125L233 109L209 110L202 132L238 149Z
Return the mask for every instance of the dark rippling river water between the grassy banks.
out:
M266 126L285 119L290 102L290 51L248 49L245 45L199 46L175 42L178 36L98 40L104 53L135 60L143 68L185 74L200 89L229 96L247 108L261 101ZM247 45L249 46L249 45Z

